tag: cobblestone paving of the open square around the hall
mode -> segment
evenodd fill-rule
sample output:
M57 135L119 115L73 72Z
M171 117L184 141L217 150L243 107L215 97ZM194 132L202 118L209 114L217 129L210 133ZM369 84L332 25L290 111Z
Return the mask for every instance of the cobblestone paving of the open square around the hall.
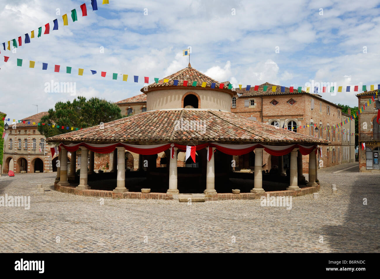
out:
M260 200L100 205L54 191L53 173L3 176L0 196L30 195L31 206L0 207L0 252L380 252L380 174L332 173L339 168L320 170L319 199L293 197L291 210ZM37 184L51 191L39 193Z

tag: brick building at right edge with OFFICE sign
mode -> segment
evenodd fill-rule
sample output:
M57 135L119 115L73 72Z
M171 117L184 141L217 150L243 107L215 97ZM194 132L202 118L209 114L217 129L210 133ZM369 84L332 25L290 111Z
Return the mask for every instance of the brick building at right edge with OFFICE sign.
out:
M359 171L380 172L380 125L376 122L380 109L379 94L377 90L364 91L356 95L358 106L364 111L359 114ZM375 97L374 97L375 96ZM365 143L366 149L361 145Z

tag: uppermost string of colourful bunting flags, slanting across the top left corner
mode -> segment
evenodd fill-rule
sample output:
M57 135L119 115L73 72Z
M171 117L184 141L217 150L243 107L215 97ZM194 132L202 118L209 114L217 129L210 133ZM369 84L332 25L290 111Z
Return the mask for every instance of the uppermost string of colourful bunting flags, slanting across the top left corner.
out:
M109 4L109 0L103 0L102 4ZM91 0L91 6L92 6L93 11L97 11L97 9L98 9L97 0ZM73 22L78 20L78 14L76 12L76 9L79 7L81 8L82 17L87 16L87 6L86 6L86 3L83 3L82 5L71 10L71 19L73 20ZM67 13L62 16L62 21L63 21L63 26L68 25ZM44 35L50 34L50 24L53 24L53 29L52 29L53 31L58 30L58 19L54 19L54 20L48 22L47 24L45 24ZM40 38L42 35L42 28L43 27L41 26L41 27L38 27L38 28L30 31L30 36L29 36L29 32L25 33L25 35L22 35L22 36L24 36L24 44L30 43L30 39L35 38L35 31L38 31L37 38ZM11 45L13 46L13 48L17 48L17 47L22 46L22 36L18 36L17 40L11 39L9 41L2 43L3 44L3 50L5 50L5 51L11 50ZM17 43L18 43L18 46L17 46ZM1 53L1 49L0 49L0 53Z

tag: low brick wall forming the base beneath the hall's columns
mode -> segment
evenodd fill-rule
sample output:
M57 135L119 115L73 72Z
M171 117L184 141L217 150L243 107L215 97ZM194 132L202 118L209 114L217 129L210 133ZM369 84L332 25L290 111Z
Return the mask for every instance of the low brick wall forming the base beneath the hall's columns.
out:
M173 200L173 195L166 193L149 193L142 194L141 192L124 192L124 193L115 193L114 191L105 191L105 190L78 190L74 186L58 186L54 185L56 191L74 194L74 195L83 195L89 197L104 197L112 199L155 199L155 200ZM232 193L222 193L222 194L209 194L205 195L206 200L255 200L260 199L261 196L293 196L298 197L301 195L312 194L320 190L320 185L315 187L304 187L301 188L301 191L272 191L265 192L264 194L254 194L254 193L241 193L241 194L232 194Z

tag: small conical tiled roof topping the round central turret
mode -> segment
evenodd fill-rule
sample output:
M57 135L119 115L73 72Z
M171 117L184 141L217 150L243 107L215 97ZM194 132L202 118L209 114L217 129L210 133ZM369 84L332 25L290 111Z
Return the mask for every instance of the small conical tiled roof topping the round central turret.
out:
M164 79L168 79L168 82L164 82ZM174 85L174 80L178 80L178 85ZM164 77L163 79L158 80L158 84L155 82L148 85L148 91L153 90L155 88L160 87L169 87L169 86L176 86L176 87L184 87L184 80L187 80L187 87L193 87L193 81L197 81L197 84L195 87L202 87L202 82L206 82L206 88L211 88L211 84L215 83L215 88L219 88L219 85L221 83L224 84L223 90L228 91L229 93L233 94L231 90L228 89L228 85L230 84L229 81L226 82L218 82L215 79L212 79L211 77L206 76L205 74L199 72L198 70L194 68L184 68L182 70L179 70L178 72L171 74L170 76ZM141 88L141 92L144 92L144 88Z

